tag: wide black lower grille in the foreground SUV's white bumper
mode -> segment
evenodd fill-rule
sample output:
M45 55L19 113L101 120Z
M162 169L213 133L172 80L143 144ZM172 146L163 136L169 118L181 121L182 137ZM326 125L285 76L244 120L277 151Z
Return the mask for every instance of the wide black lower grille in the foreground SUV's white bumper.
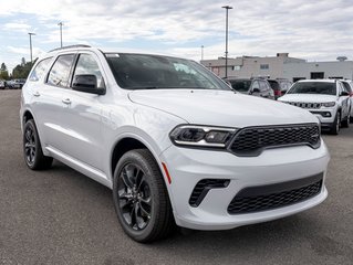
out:
M314 179L315 182L308 184ZM318 180L319 179L319 180ZM307 182L300 188L288 189L301 181ZM293 184L291 183L293 182ZM283 190L282 188L287 187ZM229 214L255 213L273 210L302 202L320 193L322 187L322 174L309 179L290 181L264 187L252 187L241 190L228 205ZM267 192L270 190L270 192ZM276 192L276 190L278 190Z

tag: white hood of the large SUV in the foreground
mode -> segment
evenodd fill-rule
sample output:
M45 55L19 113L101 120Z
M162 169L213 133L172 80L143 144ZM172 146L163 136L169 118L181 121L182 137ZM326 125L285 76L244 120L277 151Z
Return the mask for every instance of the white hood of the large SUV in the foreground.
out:
M169 113L189 124L246 127L318 123L308 110L226 91L145 89L131 92L128 97L133 103Z

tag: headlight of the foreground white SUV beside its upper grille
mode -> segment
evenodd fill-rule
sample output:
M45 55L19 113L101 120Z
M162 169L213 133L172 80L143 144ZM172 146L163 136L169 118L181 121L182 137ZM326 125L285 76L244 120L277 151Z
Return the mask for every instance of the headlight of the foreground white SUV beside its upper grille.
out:
M169 137L177 146L224 148L236 131L235 128L226 127L180 125L172 130Z

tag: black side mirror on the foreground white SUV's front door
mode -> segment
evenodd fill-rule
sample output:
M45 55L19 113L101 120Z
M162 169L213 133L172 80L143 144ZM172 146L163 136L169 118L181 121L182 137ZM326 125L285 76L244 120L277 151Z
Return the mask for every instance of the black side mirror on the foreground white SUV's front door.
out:
M97 95L105 94L105 88L97 88L95 75L75 75L72 82L72 89Z

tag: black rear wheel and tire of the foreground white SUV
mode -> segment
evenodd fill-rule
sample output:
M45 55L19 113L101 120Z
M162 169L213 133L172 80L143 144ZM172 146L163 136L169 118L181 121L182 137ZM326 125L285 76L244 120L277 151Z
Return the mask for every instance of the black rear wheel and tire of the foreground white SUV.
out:
M49 169L53 162L53 158L43 155L33 119L23 127L23 155L25 165L32 170Z

